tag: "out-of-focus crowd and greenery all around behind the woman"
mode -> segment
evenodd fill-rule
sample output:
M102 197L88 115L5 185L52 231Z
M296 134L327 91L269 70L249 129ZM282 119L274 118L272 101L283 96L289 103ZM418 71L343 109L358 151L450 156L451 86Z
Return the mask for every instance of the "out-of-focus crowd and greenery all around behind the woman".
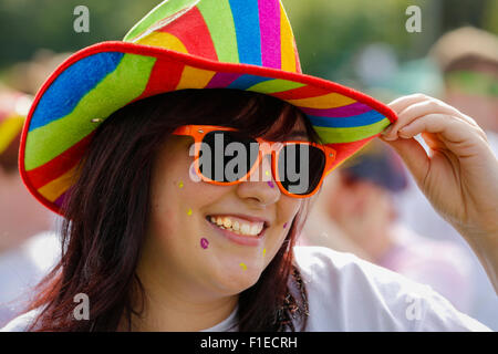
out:
M13 136L19 124L12 122L25 116L32 95L70 53L96 42L122 40L158 2L0 1L0 303L18 298L20 289L32 285L50 267L52 258L46 254L54 249L50 231L58 221L23 190L12 168L15 138L8 140L9 149L2 148L2 137L7 142L8 134ZM498 0L282 2L304 73L352 86L385 103L416 92L439 97L473 116L496 153ZM90 10L87 33L73 29L77 6ZM406 13L411 6L421 9L419 32L406 29L413 15ZM498 330L498 298L465 241L426 202L388 149L363 153L365 158L325 181L303 243L354 252L429 283L457 309ZM385 168L374 170L372 164ZM330 201L340 198L356 200L349 214L356 219L339 217ZM376 217L369 219L371 223L363 218L363 230L352 227L360 225L357 216L367 212L369 205ZM378 230L375 237L370 235L373 229ZM43 247L48 251L40 257ZM0 305L0 326L15 309Z

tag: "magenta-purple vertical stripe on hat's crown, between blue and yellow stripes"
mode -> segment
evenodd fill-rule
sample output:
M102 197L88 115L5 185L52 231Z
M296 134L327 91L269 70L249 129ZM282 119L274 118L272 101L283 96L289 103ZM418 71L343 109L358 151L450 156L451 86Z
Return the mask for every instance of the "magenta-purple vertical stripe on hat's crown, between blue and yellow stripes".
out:
M280 45L280 2L258 0L262 65L282 67Z

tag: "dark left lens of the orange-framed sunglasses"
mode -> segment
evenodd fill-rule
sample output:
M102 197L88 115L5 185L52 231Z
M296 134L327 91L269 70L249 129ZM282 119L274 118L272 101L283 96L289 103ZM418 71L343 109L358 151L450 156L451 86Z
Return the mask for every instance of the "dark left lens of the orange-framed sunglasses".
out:
M215 131L205 135L200 146L203 176L231 183L243 178L258 159L259 144L238 132Z

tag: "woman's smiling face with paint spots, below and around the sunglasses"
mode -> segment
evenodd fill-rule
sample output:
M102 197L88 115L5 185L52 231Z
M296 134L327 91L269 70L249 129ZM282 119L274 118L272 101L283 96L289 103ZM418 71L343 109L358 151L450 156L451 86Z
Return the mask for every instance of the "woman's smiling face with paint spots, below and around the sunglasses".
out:
M304 132L303 126L298 123L295 132ZM190 137L170 136L156 158L141 267L168 288L234 295L258 281L281 247L302 199L281 194L268 181L196 183L189 177L191 144ZM262 171L257 173L271 174L269 157L259 168ZM262 226L263 230L259 236L240 236L215 223L231 229L238 223L239 233L258 233Z

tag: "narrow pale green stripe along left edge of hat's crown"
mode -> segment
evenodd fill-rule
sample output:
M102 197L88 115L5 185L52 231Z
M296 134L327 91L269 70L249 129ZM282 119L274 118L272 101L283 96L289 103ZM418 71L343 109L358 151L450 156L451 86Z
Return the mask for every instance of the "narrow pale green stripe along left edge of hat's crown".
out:
M151 10L141 21L138 21L123 39L124 42L133 42L133 39L145 32L157 21L164 20L172 14L176 14L187 8L191 8L199 0L166 0Z

